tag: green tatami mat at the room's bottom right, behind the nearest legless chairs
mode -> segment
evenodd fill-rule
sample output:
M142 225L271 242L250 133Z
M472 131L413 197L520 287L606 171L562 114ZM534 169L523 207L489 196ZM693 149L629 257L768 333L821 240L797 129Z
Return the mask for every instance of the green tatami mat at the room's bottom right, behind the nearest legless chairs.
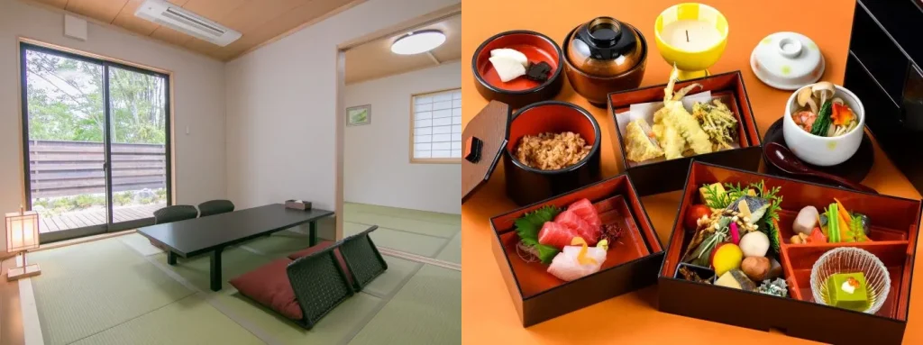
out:
M462 272L426 265L350 344L461 344Z

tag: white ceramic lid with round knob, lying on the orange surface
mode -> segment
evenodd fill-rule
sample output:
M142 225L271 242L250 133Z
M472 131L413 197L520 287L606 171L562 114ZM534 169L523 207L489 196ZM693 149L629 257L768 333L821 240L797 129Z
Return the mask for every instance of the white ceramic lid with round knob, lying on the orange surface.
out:
M808 36L775 32L763 38L750 54L750 69L775 89L798 89L821 79L823 54Z

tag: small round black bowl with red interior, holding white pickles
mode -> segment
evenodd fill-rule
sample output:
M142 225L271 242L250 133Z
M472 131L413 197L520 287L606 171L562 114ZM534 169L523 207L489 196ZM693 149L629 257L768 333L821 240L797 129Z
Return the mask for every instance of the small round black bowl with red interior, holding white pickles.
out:
M500 76L490 63L490 51L494 49L509 48L525 54L529 62L545 62L551 65L551 75L545 82L518 77L509 82L500 81ZM474 51L471 61L477 91L487 101L502 101L513 109L536 101L545 101L555 98L564 85L561 73L563 68L563 54L557 43L547 36L529 30L513 30L500 32L494 37L481 43Z

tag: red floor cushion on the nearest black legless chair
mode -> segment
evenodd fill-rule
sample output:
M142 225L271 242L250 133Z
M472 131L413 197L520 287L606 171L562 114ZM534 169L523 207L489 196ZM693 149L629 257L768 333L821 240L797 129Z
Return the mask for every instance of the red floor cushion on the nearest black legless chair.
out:
M285 272L290 263L292 261L288 258L281 258L234 278L230 283L241 294L257 303L285 317L301 320L304 314L295 300L292 283Z

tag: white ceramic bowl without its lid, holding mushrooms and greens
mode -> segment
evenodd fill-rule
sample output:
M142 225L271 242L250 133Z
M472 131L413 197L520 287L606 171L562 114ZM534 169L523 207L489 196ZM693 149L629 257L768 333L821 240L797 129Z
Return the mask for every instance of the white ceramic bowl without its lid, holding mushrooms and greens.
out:
M801 89L810 88L811 85ZM792 119L792 113L800 107L797 104L798 91L785 103L785 114L782 120L782 134L785 137L785 146L795 153L802 161L817 166L831 166L842 163L856 154L862 137L865 136L865 108L856 94L839 85L833 85L833 97L843 99L844 103L852 109L858 117L858 125L840 137L819 137L806 132Z

